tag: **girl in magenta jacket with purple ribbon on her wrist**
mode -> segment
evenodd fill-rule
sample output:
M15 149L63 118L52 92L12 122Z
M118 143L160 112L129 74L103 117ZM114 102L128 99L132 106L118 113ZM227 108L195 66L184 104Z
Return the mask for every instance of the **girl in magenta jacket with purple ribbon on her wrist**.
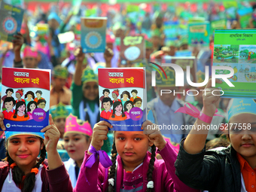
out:
M74 191L199 192L187 187L177 178L174 169L177 154L166 144L159 130L146 130L148 126L152 126L149 121L143 124L145 134L142 131L115 131L112 160L108 163L104 152L99 150L103 140L107 139L108 127L112 126L105 121L97 123L93 128L93 139L89 151L85 153ZM148 152L149 147L152 154ZM163 160L156 160L156 147ZM95 153L100 154L99 160ZM109 175L106 175L102 164L105 167L112 164Z

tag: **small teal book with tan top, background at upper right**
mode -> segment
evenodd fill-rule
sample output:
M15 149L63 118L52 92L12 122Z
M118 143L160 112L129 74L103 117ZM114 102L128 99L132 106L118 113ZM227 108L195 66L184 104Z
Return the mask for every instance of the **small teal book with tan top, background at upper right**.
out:
M188 45L190 47L209 47L209 22L188 23Z

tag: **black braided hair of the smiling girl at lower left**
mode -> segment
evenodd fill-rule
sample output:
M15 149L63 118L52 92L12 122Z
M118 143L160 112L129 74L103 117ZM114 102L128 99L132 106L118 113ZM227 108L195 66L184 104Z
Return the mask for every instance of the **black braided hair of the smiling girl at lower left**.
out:
M41 143L43 142L43 139L40 138ZM41 163L44 162L44 159L46 157L46 150L45 146L43 149L41 149L40 158L38 160L38 163L35 164L33 168L38 168L41 165ZM14 160L11 159L8 151L6 152L6 161L8 161L9 166L11 166L12 163L15 163ZM23 181L23 176L25 173L20 169L19 166L14 166L12 169L12 176L14 179L15 184L23 184L22 192L32 192L33 188L35 187L35 172L29 172L26 174L26 178Z

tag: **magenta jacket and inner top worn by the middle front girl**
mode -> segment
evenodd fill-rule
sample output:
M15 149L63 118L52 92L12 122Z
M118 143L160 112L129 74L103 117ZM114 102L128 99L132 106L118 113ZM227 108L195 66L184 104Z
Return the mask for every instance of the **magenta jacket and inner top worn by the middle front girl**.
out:
M155 160L152 180L154 181L154 191L186 191L199 192L199 190L191 189L183 184L175 175L174 163L177 154L167 143L165 148L157 151L163 160ZM90 157L85 152L84 162L81 165L81 172L74 192L81 191L107 191L108 178L105 178L105 168L96 160L91 168L86 168L84 164ZM133 170L133 172L125 172L120 156L117 156L117 173L115 183L115 191L138 191L145 192L147 190L147 172L151 159L150 152L147 152L143 163Z

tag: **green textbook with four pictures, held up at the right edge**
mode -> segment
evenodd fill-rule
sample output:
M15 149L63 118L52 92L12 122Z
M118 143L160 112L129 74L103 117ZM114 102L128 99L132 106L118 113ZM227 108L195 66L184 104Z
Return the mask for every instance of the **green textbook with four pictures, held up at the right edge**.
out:
M216 87L224 91L223 97L256 99L256 29L215 30L213 66L233 68L227 78L234 87L222 80ZM216 70L216 75L229 74L229 70Z

